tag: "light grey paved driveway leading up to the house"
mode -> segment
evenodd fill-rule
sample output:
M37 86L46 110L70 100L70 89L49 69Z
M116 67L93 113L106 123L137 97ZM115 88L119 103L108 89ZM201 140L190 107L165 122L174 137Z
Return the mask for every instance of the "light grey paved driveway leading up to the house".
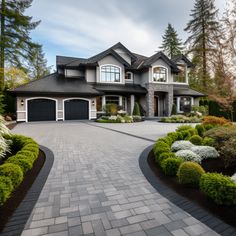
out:
M24 236L217 235L147 182L138 158L151 141L105 129L156 139L174 125L95 125L28 123L13 130L35 138L55 155Z

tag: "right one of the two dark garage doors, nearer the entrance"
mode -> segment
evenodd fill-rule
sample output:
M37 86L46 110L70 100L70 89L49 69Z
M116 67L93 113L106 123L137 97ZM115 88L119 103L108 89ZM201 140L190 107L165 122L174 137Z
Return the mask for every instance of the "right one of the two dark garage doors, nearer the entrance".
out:
M64 103L65 120L86 120L89 118L88 101L80 99L67 100Z

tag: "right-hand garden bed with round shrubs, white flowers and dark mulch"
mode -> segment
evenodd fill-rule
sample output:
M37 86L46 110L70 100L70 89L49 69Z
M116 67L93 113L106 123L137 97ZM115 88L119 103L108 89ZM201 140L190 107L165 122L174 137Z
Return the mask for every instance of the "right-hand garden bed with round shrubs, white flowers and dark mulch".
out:
M236 227L235 143L236 126L205 117L158 139L148 163L165 185Z

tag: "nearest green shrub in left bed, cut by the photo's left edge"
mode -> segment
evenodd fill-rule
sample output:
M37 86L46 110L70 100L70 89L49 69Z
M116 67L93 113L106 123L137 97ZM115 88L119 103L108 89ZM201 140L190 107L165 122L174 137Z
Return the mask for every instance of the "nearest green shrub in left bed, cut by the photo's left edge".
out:
M0 176L0 205L2 205L13 191L11 179L6 176Z

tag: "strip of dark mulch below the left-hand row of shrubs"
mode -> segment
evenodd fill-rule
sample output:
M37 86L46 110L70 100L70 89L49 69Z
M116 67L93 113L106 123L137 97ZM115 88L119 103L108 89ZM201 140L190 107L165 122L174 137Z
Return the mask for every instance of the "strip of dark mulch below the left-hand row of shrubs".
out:
M5 202L3 206L0 206L0 232L3 230L14 211L24 199L28 190L38 176L41 168L43 167L44 162L45 154L39 150L39 156L34 162L33 168L26 173L23 182L12 193L12 196Z

